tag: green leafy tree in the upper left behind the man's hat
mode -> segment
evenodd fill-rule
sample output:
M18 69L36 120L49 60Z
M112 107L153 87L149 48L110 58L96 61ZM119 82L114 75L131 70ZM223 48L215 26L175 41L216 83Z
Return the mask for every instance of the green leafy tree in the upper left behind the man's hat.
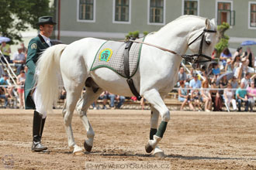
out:
M29 26L36 28L36 22L42 15L53 13L50 0L0 0L0 36L21 41L20 32Z

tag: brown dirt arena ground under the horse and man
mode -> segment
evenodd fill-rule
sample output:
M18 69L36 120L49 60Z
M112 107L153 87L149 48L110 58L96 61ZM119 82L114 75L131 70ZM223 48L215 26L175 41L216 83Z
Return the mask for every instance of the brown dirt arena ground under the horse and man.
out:
M0 110L0 169L256 169L256 114L172 111L159 145L165 158L147 154L150 110L89 110L95 130L92 153L73 155L61 110L47 115L43 145L30 151L33 110ZM76 113L74 138L83 146L85 128ZM96 165L113 165L98 167Z

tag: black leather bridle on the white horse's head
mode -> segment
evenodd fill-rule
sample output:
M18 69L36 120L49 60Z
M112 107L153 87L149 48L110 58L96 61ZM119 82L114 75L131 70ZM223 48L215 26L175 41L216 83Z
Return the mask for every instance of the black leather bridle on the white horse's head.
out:
M188 61L190 63L205 63L205 62L209 62L212 60L212 58L210 56L206 56L205 54L202 54L202 44L205 39L206 32L216 33L216 30L203 29L202 33L198 37L196 37L192 42L190 42L188 45L188 46L192 45L192 43L194 43L197 39L199 39L200 36L202 36L200 46L199 46L199 53L198 54L190 54L190 55L184 54L184 55L182 55L183 59L185 59L186 61ZM200 56L206 58L206 60L199 61Z

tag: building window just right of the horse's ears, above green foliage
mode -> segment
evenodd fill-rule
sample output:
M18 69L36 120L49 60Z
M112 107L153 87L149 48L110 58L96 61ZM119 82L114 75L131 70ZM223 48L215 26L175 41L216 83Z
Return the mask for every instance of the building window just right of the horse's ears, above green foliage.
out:
M218 25L227 22L230 26L234 26L234 11L231 10L231 2L218 2L217 20Z

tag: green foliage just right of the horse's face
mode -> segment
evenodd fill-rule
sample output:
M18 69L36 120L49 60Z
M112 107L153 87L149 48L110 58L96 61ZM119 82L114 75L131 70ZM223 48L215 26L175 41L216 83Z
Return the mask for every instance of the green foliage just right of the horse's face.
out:
M230 37L224 34L227 29L230 29L230 25L227 22L223 22L220 26L218 26L218 43L215 46L217 49L217 56L220 56L220 53L223 51L223 49L228 47L228 41Z

